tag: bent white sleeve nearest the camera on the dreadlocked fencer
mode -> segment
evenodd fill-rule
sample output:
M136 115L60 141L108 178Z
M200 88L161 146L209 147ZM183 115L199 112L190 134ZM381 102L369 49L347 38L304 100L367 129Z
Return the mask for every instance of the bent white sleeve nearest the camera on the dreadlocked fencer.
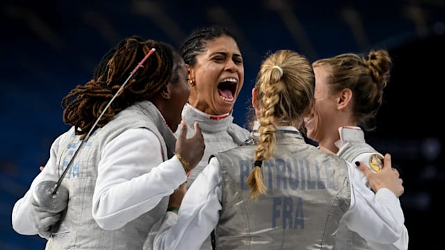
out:
M130 129L102 151L92 217L105 230L121 228L185 181L186 172L176 156L163 162L161 144L152 131Z

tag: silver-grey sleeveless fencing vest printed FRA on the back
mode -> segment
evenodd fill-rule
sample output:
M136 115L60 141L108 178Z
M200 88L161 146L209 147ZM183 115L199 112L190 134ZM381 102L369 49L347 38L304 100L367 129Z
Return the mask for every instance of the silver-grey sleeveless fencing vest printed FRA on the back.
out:
M245 183L256 144L216 155L223 178L218 249L330 249L334 244L331 235L350 206L347 165L293 132L277 133L273 157L261 167L268 192L257 201L249 199Z

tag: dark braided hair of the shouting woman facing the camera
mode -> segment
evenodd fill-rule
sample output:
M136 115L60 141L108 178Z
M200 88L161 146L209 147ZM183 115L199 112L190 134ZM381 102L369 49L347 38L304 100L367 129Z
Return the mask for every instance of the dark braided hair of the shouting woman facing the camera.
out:
M186 40L184 40L180 49L181 56L184 58L184 63L193 67L196 63L196 56L206 51L207 44L222 36L233 38L239 47L239 43L234 35L224 27L210 26L192 31Z

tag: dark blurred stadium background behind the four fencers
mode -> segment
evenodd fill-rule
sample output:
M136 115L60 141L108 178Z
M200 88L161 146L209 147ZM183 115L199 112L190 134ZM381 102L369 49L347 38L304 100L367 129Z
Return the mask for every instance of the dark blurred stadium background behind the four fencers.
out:
M86 83L101 56L126 36L179 47L193 28L211 24L227 26L241 42L245 83L234 117L242 126L267 53L295 49L315 60L388 49L391 81L377 129L366 136L391 153L401 172L410 249L442 247L433 227L444 224L445 1L3 0L0 6L0 249L44 249L45 240L13 231L11 210L67 129L60 106L67 92Z

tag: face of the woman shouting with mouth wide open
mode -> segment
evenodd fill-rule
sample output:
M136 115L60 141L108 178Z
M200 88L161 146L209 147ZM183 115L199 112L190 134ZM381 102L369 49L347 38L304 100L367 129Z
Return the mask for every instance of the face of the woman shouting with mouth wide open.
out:
M235 40L223 35L209 41L189 67L189 78L188 103L209 115L230 113L244 83L243 57Z

